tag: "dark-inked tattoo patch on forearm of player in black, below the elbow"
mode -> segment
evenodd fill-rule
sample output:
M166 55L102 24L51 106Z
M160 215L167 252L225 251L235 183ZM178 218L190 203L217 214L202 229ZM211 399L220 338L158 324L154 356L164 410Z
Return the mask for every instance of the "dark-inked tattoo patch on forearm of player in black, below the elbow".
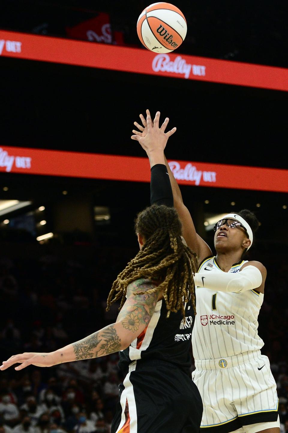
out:
M121 349L121 340L114 325L109 325L82 340L73 343L75 360L97 358Z

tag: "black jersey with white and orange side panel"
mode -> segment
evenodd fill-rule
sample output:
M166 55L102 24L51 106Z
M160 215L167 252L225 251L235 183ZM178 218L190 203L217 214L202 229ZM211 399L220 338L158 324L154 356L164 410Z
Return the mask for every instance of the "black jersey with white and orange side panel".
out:
M145 284L152 284L144 280ZM170 313L167 318L165 300L158 301L153 316L145 330L130 344L120 351L119 367L125 373L129 365L137 365L149 360L163 360L189 372L191 366L190 346L193 323L191 300L185 304L186 320L182 312Z

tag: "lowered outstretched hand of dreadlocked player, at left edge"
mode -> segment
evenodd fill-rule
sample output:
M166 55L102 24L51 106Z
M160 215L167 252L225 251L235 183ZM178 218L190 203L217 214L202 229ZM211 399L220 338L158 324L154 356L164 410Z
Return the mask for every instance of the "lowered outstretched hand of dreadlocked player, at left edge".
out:
M22 370L28 365L36 365L36 367L51 367L54 365L53 352L51 353L38 353L38 352L25 352L19 355L13 355L7 361L3 361L0 370L6 370L14 364L21 364L15 367L15 370Z

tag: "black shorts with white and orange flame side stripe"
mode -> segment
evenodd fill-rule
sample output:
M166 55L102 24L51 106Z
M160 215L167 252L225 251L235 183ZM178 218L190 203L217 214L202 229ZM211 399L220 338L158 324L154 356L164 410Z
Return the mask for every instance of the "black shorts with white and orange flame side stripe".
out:
M198 433L203 404L191 375L169 362L130 365L111 433Z

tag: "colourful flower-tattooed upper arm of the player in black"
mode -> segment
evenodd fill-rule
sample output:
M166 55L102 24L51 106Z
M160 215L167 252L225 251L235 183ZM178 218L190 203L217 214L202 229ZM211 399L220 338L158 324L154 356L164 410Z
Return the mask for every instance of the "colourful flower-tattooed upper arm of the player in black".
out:
M129 331L137 332L143 324L149 324L157 304L158 291L139 294L155 287L151 281L143 279L134 281L127 288L127 301L118 315L123 327Z

